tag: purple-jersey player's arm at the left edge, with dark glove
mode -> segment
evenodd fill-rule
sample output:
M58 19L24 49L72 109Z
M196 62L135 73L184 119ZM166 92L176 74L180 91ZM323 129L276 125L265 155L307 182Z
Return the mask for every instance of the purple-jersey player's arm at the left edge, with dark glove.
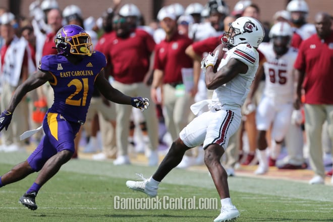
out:
M13 112L22 100L23 96L25 96L27 92L43 85L49 80L53 80L50 73L44 73L38 70L35 74L31 75L26 81L17 87L7 109L0 115L0 131L4 128L7 130L9 124L11 123Z

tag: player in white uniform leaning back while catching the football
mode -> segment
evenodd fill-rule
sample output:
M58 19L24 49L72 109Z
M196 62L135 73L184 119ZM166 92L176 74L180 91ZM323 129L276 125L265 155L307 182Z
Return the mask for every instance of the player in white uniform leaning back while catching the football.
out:
M160 181L175 168L186 150L203 144L204 162L213 179L221 199L220 214L215 222L227 221L239 217L240 213L233 205L227 181L227 172L220 163L229 138L237 131L241 123L241 106L250 90L258 68L259 55L256 50L264 36L264 30L258 20L241 17L230 24L223 36L224 54L209 53L203 59L205 81L208 89L213 89L212 99L197 102L191 106L196 115L200 109L209 110L196 117L180 133L160 163L157 171L143 181L127 181L130 189L141 191L150 197L157 195ZM217 71L217 59L221 59Z

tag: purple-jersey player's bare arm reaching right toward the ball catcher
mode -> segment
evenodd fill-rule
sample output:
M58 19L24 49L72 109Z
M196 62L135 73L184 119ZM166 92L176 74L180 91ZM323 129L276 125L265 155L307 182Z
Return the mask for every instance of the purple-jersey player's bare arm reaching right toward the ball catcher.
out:
M100 93L108 100L119 103L132 105L133 107L140 108L142 111L149 106L149 100L142 97L130 97L125 95L118 89L115 89L104 77L104 70L102 70L96 77L95 86Z

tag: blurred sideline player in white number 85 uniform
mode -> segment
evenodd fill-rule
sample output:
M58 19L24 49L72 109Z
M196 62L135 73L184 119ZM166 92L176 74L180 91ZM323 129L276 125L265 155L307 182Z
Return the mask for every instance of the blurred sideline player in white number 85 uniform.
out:
M275 165L290 126L295 92L293 65L297 57L297 50L290 47L292 35L292 28L287 22L278 22L269 32L271 41L259 46L266 58L263 64L266 78L263 97L256 112L259 167L255 174L264 174L268 171L268 165ZM254 81L250 96L254 94L256 85L257 81ZM268 163L266 132L271 126L272 141Z

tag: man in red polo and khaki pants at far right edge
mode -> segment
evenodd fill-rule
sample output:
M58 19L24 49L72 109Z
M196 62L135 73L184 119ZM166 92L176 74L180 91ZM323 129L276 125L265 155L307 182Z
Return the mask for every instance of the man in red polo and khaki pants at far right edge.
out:
M294 65L299 76L294 103L296 109L300 107L302 88L305 91L305 132L310 165L315 173L309 184L324 184L321 132L325 120L329 136L333 139L333 31L330 26L328 14L320 12L315 16L317 33L301 43Z

